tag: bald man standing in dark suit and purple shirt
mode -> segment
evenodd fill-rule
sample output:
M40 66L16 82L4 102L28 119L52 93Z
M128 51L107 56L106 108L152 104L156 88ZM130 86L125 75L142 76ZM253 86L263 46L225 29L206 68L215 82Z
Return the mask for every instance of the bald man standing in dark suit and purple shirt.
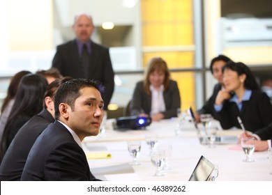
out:
M56 47L52 67L59 69L63 76L101 81L105 86L102 98L107 110L114 92L114 71L109 49L91 40L94 29L91 16L76 15L73 24L75 40Z

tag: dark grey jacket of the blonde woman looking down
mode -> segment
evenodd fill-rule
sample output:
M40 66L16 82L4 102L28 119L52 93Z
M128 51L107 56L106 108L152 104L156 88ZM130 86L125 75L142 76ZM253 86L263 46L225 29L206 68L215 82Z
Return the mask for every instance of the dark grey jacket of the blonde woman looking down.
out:
M165 118L176 117L176 109L181 107L181 97L176 81L170 80L169 88L163 92L166 111L162 112ZM130 116L137 116L140 113L150 114L151 112L151 95L144 91L144 82L139 81L135 86L133 100L131 102Z

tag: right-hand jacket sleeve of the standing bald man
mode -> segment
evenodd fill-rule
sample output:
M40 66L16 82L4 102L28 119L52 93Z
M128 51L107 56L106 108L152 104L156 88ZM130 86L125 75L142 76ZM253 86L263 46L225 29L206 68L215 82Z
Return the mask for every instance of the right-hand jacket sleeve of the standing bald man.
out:
M114 70L112 68L112 61L109 56L109 49L105 49L103 59L103 84L105 86L105 92L102 94L102 96L105 102L105 109L107 109L107 106L112 98L112 94L114 93Z

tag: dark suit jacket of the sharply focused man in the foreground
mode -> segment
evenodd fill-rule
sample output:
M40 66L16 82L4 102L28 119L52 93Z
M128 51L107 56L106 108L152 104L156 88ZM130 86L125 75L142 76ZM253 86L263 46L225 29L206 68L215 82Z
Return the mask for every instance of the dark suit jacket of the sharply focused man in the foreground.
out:
M21 180L96 180L72 134L56 120L30 150Z

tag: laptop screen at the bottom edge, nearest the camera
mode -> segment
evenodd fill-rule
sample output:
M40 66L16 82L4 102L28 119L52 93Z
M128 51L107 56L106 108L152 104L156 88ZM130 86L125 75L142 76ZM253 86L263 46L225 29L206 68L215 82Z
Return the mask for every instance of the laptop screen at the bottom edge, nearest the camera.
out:
M199 158L189 181L207 181L213 172L214 165L203 155Z

